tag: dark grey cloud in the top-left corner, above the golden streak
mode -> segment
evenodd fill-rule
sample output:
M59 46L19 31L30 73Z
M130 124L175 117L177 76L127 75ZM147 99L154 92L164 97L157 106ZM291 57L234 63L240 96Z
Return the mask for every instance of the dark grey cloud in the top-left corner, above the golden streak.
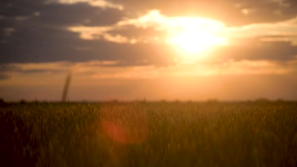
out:
M10 1L0 2L0 21L2 26L69 26L69 25L109 25L125 16L123 10L100 8L86 2L46 3L46 0L20 0L7 7ZM66 12L65 12L66 11ZM21 24L20 24L21 21Z

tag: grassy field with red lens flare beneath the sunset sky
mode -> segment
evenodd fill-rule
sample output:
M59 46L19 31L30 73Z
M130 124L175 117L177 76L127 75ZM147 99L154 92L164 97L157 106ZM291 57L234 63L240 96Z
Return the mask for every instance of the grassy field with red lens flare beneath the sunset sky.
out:
M42 167L297 166L295 102L28 103L0 112L0 166L9 156Z

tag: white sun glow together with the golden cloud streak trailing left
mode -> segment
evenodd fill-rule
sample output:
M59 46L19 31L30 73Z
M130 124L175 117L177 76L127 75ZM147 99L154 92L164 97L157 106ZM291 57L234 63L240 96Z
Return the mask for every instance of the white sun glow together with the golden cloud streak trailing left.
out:
M162 32L162 37L128 39L127 37L112 36L109 31L133 25L138 28L153 28ZM109 42L136 43L136 42L166 42L177 51L180 57L176 60L193 62L214 50L217 46L228 44L229 29L221 21L198 17L167 17L159 10L151 10L148 14L137 19L119 21L115 27L70 27L72 32L80 32L84 40L104 38ZM165 38L163 33L166 34Z

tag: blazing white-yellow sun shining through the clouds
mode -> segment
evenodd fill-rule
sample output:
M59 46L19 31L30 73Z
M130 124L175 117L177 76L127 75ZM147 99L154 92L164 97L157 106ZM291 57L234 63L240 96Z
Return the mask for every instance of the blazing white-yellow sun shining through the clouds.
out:
M170 43L184 58L199 59L216 46L227 45L224 26L218 21L199 18L180 18L179 26L169 31Z

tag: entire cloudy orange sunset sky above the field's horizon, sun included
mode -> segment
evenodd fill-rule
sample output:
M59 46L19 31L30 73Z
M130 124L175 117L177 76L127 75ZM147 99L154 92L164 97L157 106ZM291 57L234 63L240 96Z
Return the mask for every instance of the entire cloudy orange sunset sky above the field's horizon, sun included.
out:
M0 98L297 100L297 0L1 0Z

